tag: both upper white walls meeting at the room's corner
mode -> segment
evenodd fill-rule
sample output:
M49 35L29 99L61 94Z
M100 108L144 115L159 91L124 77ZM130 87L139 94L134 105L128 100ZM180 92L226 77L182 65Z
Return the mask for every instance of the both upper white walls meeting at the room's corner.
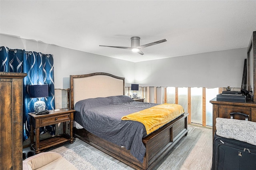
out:
M247 48L133 63L0 34L0 46L54 55L55 88L69 87L69 75L106 72L126 86L240 87Z

